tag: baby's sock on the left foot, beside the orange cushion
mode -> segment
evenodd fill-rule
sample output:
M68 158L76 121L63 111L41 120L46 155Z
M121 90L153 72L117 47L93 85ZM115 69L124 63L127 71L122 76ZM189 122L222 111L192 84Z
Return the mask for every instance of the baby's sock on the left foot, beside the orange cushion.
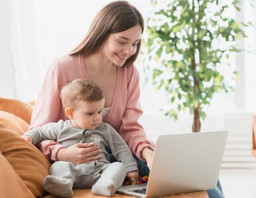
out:
M46 176L42 181L42 185L46 191L57 195L58 197L72 197L72 181L55 176Z

